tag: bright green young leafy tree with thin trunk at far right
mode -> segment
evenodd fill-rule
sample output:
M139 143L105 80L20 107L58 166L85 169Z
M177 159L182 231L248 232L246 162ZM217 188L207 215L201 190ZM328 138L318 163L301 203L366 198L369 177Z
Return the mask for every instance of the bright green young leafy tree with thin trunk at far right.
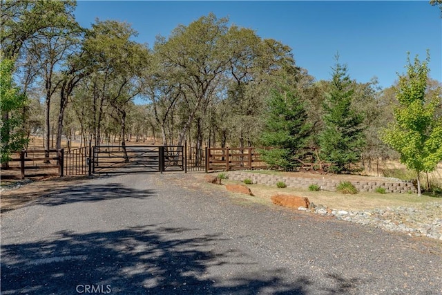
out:
M427 97L427 59L416 55L414 64L407 56L407 74L399 75L394 108L394 124L383 130L382 139L401 155L401 162L416 171L418 195L421 196L421 172L434 171L442 160L442 118L437 113L439 97Z

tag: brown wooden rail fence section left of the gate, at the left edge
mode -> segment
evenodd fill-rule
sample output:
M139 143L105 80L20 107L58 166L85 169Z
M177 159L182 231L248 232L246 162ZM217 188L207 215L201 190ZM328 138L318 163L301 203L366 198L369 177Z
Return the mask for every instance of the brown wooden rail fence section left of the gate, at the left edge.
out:
M54 162L55 161L55 162ZM19 152L19 158L12 158L8 167L3 167L1 178L25 178L29 177L48 177L63 176L64 169L64 149L55 150L22 150ZM8 173L8 171L12 171ZM17 175L20 171L20 175ZM28 171L34 171L28 173Z

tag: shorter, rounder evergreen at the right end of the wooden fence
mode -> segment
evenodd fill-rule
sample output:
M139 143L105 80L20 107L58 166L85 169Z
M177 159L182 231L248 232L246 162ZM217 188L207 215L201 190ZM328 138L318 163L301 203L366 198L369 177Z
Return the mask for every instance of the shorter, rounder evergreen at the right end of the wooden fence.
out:
M311 135L305 106L294 92L283 87L281 91L271 92L268 108L260 144L273 149L260 151L262 159L271 169L294 169L299 166L298 159L302 158Z

